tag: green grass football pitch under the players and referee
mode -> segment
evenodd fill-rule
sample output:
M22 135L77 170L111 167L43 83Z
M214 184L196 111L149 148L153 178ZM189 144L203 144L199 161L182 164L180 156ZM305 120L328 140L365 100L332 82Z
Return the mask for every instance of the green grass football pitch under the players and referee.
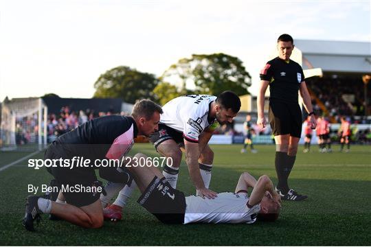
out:
M258 154L240 154L241 145L212 145L214 167L210 188L234 191L241 172L267 174L276 183L273 145L257 145ZM43 215L36 232L21 225L27 185L49 183L45 169L35 170L23 161L0 172L0 246L368 246L371 244L371 148L352 146L350 153L297 154L289 178L291 187L309 198L283 202L277 222L256 224L164 225L136 203L137 191L120 222L105 222L100 229L85 229L67 222L52 222ZM136 144L132 152L157 153L149 144ZM26 152L0 152L0 167ZM43 152L33 158L42 158ZM186 164L181 165L178 187L194 193Z

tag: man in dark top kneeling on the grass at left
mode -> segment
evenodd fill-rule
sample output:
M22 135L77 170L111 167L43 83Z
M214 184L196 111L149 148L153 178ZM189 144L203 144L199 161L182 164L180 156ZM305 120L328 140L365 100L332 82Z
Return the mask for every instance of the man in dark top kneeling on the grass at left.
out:
M131 116L106 116L87 121L74 131L61 135L45 152L45 159L52 161L73 160L75 157L89 158L91 164L103 159L120 159L133 146L138 134L150 137L158 130L160 106L148 99L142 99L133 106ZM100 175L113 182L131 183L129 174L116 167L95 167L56 165L48 172L62 186L58 199L67 203L53 202L41 196L28 196L23 226L34 231L34 221L41 213L52 213L56 217L85 228L99 228L103 224L103 209L100 202L102 188L95 176ZM78 189L78 188L84 189ZM62 198L62 196L64 198Z

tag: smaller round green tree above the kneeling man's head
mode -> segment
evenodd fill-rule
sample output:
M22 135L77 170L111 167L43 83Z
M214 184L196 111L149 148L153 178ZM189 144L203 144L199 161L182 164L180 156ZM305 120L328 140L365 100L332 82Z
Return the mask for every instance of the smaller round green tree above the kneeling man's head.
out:
M155 75L120 66L100 75L94 83L93 97L115 97L134 104L137 99L156 100L153 89L159 83Z

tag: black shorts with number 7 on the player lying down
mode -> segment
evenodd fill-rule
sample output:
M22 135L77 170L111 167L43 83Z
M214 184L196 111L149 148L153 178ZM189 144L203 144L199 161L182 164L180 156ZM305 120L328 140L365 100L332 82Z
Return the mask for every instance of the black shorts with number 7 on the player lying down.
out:
M153 178L137 202L165 224L183 224L186 197L173 189L166 178Z

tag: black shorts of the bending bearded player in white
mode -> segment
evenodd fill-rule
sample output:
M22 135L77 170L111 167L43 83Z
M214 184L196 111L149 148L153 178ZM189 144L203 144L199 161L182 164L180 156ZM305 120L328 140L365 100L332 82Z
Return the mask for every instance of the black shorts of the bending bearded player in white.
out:
M184 145L183 133L164 124L159 124L159 131L153 133L149 140L157 150L158 145L169 139L174 140L179 147Z

